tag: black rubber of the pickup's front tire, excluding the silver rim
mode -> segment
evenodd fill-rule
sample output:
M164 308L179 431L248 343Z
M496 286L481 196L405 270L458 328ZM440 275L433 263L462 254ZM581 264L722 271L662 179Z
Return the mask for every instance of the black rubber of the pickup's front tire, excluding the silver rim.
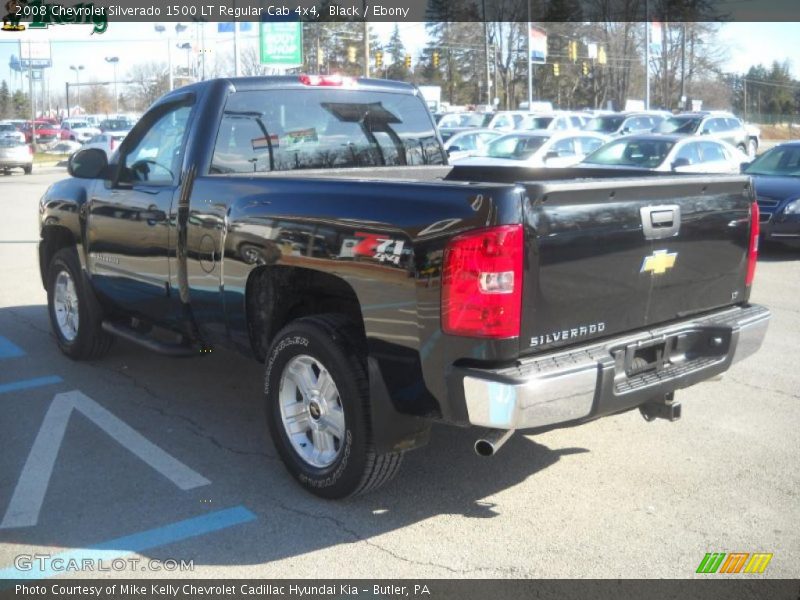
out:
M72 280L77 298L78 325L72 339L62 331L56 315L56 280L64 272ZM78 255L74 248L62 248L55 253L47 271L47 309L50 326L58 347L74 360L100 358L111 347L113 337L101 326L103 311L92 289L83 278Z

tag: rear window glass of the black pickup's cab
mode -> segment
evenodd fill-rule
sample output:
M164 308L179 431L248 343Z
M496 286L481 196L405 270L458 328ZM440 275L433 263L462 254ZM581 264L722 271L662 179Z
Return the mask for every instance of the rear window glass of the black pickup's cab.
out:
M423 101L343 89L236 92L217 134L211 173L440 165Z

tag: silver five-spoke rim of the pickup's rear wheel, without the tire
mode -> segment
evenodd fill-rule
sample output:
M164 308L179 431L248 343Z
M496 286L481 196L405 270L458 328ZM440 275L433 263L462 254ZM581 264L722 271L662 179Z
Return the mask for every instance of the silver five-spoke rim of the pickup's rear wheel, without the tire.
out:
M295 452L312 467L332 465L344 448L344 407L336 383L317 359L295 356L281 374L281 422Z

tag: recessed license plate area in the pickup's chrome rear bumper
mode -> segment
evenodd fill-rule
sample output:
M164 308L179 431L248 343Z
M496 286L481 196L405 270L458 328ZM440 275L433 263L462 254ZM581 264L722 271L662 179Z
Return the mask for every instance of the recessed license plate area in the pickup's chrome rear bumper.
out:
M698 327L639 340L612 350L615 380L634 379L661 373L675 366L691 367L728 354L732 330L729 327Z

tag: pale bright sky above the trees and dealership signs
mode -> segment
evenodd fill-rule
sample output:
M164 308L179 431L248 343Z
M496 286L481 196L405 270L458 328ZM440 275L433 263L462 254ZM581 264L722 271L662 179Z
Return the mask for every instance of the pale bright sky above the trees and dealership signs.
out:
M111 81L113 67L106 57L119 58L119 79L125 78L127 70L137 62L166 62L168 48L172 51L174 65L183 65L186 52L175 47L177 42L196 42L193 27L176 38L174 24L165 23L172 34L168 41L165 34L154 30L154 23L110 23L103 34L93 34L91 25L58 25L47 30L23 33L2 32L0 36L0 79L8 81L12 89L20 85L18 75L12 75L8 67L11 55L19 54L19 40L49 39L52 48L53 66L46 70L50 89L63 93L67 81L75 82L76 73L70 66L83 65L79 77L82 82L96 79ZM382 40L388 40L394 23L372 23L372 31ZM400 35L406 49L413 55L425 45L424 23L399 23ZM241 34L243 43L255 44L257 33ZM798 23L728 23L721 27L719 41L727 48L727 70L745 72L751 65L770 64L773 60L789 60L795 77L800 78L800 44L797 44ZM217 33L216 24L205 28L205 46L213 53L231 53L232 34ZM27 79L22 80L27 86ZM71 90L71 94L74 90Z

